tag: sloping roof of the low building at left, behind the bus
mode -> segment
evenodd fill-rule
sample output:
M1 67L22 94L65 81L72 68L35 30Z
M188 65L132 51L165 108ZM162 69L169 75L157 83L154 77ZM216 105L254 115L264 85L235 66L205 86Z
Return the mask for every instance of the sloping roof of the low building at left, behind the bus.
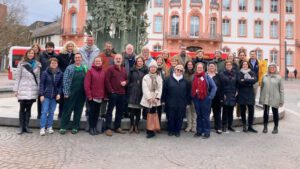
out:
M53 22L49 25L32 30L32 38L49 36L49 35L60 35L60 22Z

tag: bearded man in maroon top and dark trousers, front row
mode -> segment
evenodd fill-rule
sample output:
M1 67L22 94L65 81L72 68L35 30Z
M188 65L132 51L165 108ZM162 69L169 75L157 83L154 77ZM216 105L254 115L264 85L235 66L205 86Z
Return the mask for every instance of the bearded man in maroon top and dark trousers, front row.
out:
M122 112L124 112L124 100L127 85L127 73L122 66L123 57L116 54L114 58L114 65L110 66L106 71L105 86L109 94L108 107L106 112L106 131L107 136L112 136L111 123L112 111L116 107L116 116L114 122L114 129L116 133L125 134L121 129Z

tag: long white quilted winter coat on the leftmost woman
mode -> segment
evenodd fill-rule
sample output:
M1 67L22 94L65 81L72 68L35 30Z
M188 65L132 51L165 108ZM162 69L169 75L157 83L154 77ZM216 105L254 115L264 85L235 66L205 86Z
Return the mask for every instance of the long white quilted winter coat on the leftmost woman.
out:
M18 93L18 100L37 99L39 94L41 64L36 61L36 68L33 70L37 83L34 76L24 67L25 65L30 66L30 64L25 61L21 61L18 64L13 91Z

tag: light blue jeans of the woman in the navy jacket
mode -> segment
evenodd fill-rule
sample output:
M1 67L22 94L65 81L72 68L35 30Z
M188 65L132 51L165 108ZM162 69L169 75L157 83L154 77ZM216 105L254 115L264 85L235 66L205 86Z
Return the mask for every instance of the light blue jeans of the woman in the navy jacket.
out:
M41 128L45 128L47 124L47 128L52 127L53 124L53 116L56 108L56 100L45 98L42 102L42 116L40 120Z

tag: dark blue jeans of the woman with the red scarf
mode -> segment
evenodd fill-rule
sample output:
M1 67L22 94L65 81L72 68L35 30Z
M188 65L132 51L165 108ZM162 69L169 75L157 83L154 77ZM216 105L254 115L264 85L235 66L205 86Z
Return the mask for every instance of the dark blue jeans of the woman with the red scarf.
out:
M197 113L197 133L210 134L210 108L211 99L206 97L204 100L194 98L195 110Z

